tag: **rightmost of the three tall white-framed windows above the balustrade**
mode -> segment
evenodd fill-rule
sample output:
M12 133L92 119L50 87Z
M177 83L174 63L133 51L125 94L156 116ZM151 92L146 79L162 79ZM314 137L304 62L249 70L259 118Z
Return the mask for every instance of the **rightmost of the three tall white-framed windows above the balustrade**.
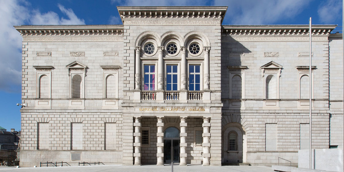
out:
M201 64L189 64L189 90L202 90Z

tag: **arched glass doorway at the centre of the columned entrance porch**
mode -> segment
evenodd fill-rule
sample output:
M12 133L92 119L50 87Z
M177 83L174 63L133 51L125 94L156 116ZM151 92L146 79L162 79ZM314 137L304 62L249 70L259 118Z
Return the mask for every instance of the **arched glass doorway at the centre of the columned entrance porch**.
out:
M173 147L173 162L180 162L180 131L175 127L169 127L164 132L164 163L171 163L171 147Z

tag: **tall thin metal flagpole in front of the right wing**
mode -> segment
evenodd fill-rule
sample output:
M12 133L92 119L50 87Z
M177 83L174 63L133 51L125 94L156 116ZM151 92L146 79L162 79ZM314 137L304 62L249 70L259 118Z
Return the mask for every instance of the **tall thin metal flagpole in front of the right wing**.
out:
M312 169L312 18L309 18L309 169Z

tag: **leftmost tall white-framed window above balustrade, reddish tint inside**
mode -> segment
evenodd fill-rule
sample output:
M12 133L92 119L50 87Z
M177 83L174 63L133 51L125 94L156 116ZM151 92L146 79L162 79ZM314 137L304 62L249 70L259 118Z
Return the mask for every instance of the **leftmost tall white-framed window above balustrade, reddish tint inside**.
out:
M143 64L143 90L155 90L156 88L156 65Z

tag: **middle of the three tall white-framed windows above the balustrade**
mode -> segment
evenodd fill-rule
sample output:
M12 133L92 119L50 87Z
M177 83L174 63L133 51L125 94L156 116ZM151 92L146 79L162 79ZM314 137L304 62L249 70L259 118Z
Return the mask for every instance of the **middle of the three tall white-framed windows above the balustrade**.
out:
M166 64L166 90L178 90L178 65Z

